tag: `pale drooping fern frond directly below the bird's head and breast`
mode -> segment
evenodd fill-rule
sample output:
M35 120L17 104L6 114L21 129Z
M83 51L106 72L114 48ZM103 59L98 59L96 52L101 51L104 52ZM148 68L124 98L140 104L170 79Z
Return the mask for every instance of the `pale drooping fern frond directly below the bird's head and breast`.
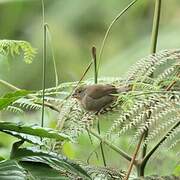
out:
M75 100L68 99L60 107L56 129L76 141L77 137L93 124L94 119L94 113L85 112ZM53 149L58 151L61 146L62 141L56 141Z

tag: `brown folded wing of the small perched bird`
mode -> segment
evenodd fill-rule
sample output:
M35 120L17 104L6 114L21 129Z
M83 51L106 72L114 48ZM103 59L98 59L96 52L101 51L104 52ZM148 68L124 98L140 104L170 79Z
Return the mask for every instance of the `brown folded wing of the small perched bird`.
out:
M117 89L112 85L93 85L87 88L87 94L93 99L98 99L106 95L116 94Z

